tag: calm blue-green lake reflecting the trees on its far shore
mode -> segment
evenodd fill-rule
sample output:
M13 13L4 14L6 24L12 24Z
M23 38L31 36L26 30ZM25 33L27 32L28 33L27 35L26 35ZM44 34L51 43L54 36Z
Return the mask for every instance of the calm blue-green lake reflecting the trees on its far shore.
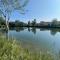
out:
M10 38L20 41L25 48L60 56L60 29L21 27L11 28L8 33Z

